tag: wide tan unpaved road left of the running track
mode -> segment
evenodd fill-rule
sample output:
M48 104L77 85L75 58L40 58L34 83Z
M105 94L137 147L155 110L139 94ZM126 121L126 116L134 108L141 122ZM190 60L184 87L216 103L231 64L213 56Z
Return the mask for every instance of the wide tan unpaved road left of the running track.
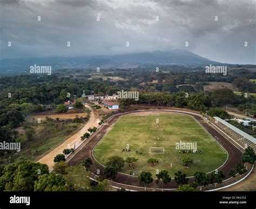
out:
M99 126L96 122L96 119L97 119L96 113L92 110L92 108L89 105L85 105L85 106L88 107L92 112L88 122L84 125L84 127L78 132L76 132L75 134L73 134L70 138L66 139L61 145L59 145L49 153L45 154L44 157L38 160L39 163L47 164L49 167L49 170L53 168L53 165L54 165L53 159L55 156L57 156L57 154L63 154L62 151L64 149L73 148L74 145L76 145L77 147L82 142L80 137L83 136L85 132L88 132L87 129L89 129L89 127Z

